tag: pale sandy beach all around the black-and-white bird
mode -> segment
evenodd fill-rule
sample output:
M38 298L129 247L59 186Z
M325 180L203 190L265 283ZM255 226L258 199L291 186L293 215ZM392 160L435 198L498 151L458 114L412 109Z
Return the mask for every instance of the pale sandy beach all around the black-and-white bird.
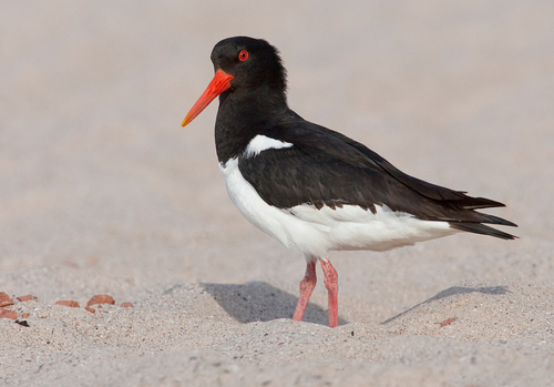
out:
M0 318L0 384L554 385L553 16L552 1L2 2L0 292L21 324ZM332 252L340 326L322 282L291 322L304 258L228 200L216 103L179 126L213 45L237 34L279 48L300 115L505 203L491 213L520 238ZM86 310L99 294L115 305Z

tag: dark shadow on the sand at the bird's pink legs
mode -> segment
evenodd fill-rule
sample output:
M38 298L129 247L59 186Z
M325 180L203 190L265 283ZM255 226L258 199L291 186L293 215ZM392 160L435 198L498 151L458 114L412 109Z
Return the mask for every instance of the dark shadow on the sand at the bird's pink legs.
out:
M269 322L277 318L293 318L298 296L288 294L265 282L246 284L201 284L207 293L237 322ZM329 324L327 309L309 303L304 322ZM339 317L339 324L348 324Z

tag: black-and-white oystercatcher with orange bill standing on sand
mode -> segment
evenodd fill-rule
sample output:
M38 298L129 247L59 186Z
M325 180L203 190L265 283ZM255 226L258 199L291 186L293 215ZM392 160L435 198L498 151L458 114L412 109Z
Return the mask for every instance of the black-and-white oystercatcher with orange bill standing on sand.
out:
M460 232L516 238L488 225L516 224L476 211L504 204L412 177L295 113L280 53L266 40L224 39L211 59L215 75L182 126L219 98L215 145L230 200L252 224L306 258L295 322L302 320L319 263L329 327L339 325L330 251L388 251Z

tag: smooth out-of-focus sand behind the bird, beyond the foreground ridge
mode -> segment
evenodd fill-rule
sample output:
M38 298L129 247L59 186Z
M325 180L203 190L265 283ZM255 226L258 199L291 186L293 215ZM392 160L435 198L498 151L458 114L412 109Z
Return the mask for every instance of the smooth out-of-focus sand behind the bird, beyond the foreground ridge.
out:
M520 224L512 243L334 253L341 292L378 308L393 271L407 291L382 305L400 312L463 279L551 282L553 24L547 0L3 1L0 284L48 285L52 299L196 282L296 294L302 257L227 197L217 102L181 128L213 77L212 48L238 34L280 50L305 119L409 174L506 203L494 213Z

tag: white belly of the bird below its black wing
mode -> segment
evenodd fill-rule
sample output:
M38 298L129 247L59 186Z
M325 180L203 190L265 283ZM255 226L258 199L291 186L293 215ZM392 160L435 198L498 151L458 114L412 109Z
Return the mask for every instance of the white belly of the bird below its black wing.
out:
M331 249L386 251L456 233L448 222L421 221L407 213L376 205L376 214L356 205L332 210L268 205L238 169L238 160L219 164L227 192L238 211L256 227L285 246L324 257Z

